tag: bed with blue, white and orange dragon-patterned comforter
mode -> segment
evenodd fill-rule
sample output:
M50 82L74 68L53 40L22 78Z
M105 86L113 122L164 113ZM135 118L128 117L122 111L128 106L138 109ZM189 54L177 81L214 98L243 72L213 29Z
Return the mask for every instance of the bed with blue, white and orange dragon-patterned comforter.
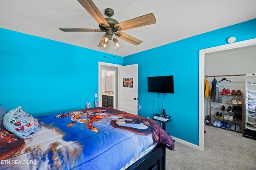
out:
M0 169L165 170L166 148L174 150L154 120L111 107L35 118L35 137L2 145Z

